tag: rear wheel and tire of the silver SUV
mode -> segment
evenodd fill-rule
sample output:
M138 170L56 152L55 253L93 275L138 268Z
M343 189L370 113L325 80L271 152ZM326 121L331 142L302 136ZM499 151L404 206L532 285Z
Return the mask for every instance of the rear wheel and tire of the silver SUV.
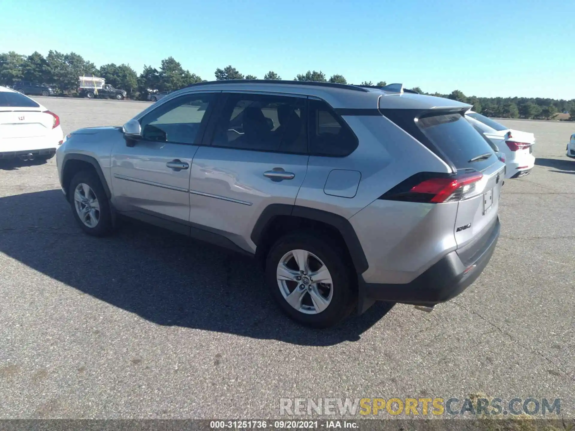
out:
M290 318L312 328L342 321L354 302L353 270L346 252L328 236L288 234L271 247L266 283Z

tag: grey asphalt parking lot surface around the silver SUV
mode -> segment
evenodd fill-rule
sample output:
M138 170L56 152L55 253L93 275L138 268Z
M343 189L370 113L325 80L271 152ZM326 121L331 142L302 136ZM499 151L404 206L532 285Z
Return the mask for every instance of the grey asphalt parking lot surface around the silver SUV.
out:
M38 98L64 133L141 102ZM575 414L575 124L535 133L476 283L427 314L376 305L332 330L283 317L255 263L140 225L76 227L55 159L0 164L0 418L274 418L279 398L561 398Z

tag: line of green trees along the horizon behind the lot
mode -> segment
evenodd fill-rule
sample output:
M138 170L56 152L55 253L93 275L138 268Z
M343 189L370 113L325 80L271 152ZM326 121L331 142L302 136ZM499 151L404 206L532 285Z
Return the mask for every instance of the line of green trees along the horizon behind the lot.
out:
M78 87L78 76L100 76L113 87L126 90L128 97L145 100L150 91L173 91L189 84L205 82L200 76L182 67L174 57L167 57L159 68L144 66L138 75L129 64L104 64L96 67L91 61L85 60L75 52L62 53L49 51L47 56L34 52L21 55L14 51L0 53L0 85L11 86L18 80L46 83L56 88L61 94L74 95ZM224 79L258 79L255 75L241 74L235 67L217 68L214 72L216 80ZM274 71L269 71L263 79L282 79ZM335 74L327 78L322 71L310 71L298 74L298 81L333 82L347 84L343 75ZM361 85L385 86L381 80L377 83L363 81ZM570 120L575 121L575 99L550 99L527 97L476 97L466 96L459 90L450 94L425 93L419 87L412 90L421 94L446 97L473 105L473 109L488 117L499 118L554 118L555 114L571 113Z

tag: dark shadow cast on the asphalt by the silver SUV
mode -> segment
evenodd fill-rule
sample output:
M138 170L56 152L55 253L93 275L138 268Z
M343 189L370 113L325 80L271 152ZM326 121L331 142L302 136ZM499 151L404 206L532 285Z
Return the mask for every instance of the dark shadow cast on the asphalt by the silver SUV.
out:
M2 197L0 214L0 252L159 325L333 345L359 340L391 308L376 303L335 328L308 329L279 311L250 257L131 221L90 237L60 190Z

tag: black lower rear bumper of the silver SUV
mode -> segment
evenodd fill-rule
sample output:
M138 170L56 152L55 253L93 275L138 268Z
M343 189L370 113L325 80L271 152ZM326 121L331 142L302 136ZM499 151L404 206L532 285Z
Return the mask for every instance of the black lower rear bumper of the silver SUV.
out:
M365 283L360 276L359 313L365 311L373 301L435 305L456 297L478 278L489 263L500 230L498 217L473 244L448 253L410 283Z

